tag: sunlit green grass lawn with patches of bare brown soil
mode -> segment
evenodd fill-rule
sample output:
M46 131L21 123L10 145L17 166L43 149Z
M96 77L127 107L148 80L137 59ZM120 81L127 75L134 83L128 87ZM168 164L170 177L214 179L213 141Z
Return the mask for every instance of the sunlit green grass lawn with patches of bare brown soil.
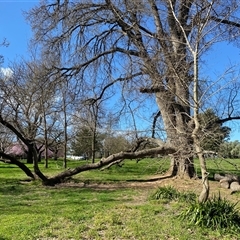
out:
M83 163L71 161L68 167ZM38 181L26 181L17 167L0 163L0 240L240 239L229 232L180 221L178 216L187 202L150 199L165 185L184 192L201 191L200 180L153 181L167 164L159 159L129 160L122 167L84 172L66 184L46 187ZM62 171L61 165L52 161L43 171L50 176ZM196 168L199 172L197 163ZM240 175L240 160L209 160L208 169L211 175L223 169ZM240 196L220 189L217 182L211 182L211 191L220 191L233 202Z

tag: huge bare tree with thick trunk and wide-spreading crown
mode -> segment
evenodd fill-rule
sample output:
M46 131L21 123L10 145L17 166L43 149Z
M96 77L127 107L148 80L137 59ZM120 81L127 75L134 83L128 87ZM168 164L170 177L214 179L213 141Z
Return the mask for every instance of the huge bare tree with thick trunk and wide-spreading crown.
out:
M71 62L67 59L57 69L62 74L81 75L82 83L90 84L88 76L97 66L104 76L102 91L113 82L124 82L123 86L139 89L139 94L154 94L166 144L178 146L170 173L193 177L201 84L198 47L209 38L213 42L236 39L238 10L234 0L50 1L32 9L28 18L35 40L45 44L49 54L53 46L65 46ZM204 45L204 51L212 43Z

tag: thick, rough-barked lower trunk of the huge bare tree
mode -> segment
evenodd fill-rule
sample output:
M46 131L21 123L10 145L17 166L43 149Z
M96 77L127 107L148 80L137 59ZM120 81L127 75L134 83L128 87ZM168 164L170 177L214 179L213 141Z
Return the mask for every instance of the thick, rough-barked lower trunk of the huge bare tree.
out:
M165 125L167 141L178 148L178 151L171 155L168 174L179 178L193 178L196 173L193 162L193 140L189 127L189 107L177 105L172 96L156 93L156 97Z

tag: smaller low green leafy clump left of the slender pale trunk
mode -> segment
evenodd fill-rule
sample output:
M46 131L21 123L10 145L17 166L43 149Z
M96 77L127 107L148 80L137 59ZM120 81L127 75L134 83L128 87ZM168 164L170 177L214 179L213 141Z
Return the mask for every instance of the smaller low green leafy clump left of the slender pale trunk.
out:
M179 200L179 201L194 201L196 194L191 192L181 193L172 186L159 187L157 191L152 194L152 200Z

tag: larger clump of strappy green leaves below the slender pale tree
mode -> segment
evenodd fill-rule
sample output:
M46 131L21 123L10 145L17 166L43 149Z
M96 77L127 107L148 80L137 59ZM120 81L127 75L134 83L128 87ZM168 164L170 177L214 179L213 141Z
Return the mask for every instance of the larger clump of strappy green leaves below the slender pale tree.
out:
M240 214L236 204L222 199L220 195L205 203L192 202L190 207L180 214L180 219L213 230L240 231Z

